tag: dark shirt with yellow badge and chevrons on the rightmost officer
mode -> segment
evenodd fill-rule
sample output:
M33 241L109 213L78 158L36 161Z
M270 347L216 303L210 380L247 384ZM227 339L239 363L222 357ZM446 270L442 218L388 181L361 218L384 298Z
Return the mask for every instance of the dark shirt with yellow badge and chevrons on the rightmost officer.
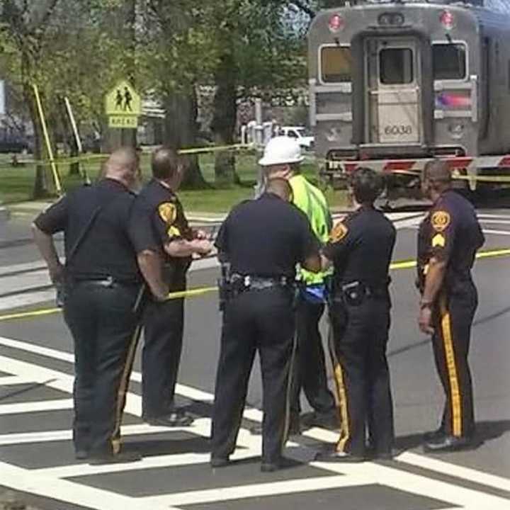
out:
M459 193L446 191L421 222L418 234L418 278L423 287L432 257L447 262L446 282L470 279L477 249L485 238L475 208Z

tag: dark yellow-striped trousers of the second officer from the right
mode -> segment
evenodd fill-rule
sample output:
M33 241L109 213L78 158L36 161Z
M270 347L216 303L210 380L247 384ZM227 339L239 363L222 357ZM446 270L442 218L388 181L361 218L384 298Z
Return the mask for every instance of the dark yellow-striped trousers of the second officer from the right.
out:
M365 297L358 306L335 302L331 324L341 414L336 450L364 456L368 427L375 454L390 453L395 436L386 358L390 301L385 297Z

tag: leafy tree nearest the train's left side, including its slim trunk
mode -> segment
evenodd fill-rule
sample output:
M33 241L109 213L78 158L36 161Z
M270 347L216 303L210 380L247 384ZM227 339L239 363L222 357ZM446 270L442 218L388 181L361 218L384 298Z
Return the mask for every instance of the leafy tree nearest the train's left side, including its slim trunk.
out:
M220 58L211 128L218 145L230 145L240 97L271 97L277 89L305 86L304 31L299 28L305 24L293 21L296 13L310 16L313 11L300 1L283 0L218 0L215 6ZM215 179L222 184L239 181L231 152L217 152Z

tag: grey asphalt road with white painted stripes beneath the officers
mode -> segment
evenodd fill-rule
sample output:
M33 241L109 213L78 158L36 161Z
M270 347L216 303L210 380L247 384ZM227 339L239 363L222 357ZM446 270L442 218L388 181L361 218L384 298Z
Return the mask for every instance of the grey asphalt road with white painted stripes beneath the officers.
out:
M510 213L484 210L485 250L510 247ZM399 218L395 261L412 259L419 218ZM6 246L0 285L13 276L23 288L30 273L9 268L33 263L33 246ZM19 262L19 263L18 263ZM207 263L205 264L207 266ZM62 317L52 314L0 322L0 485L26 492L45 509L98 510L508 510L510 509L510 257L477 261L480 307L470 360L475 381L475 450L442 455L421 451L421 433L436 428L443 406L429 340L416 328L414 270L392 272L390 368L399 456L390 462L331 465L312 461L337 432L308 429L293 436L285 455L295 465L259 471L260 438L247 427L261 420L258 365L248 395L237 462L208 465L210 404L219 350L220 314L214 293L186 303L186 333L179 402L197 416L188 429L158 429L140 421L140 361L135 363L124 429L140 463L89 466L72 456L72 344ZM4 276L2 276L2 271ZM7 275L7 276L6 276ZM190 287L215 284L217 268L196 269ZM0 295L2 288L0 287ZM29 290L23 291L30 297ZM47 297L46 297L47 298ZM8 302L10 297L4 297ZM27 301L28 302L28 301ZM16 301L16 303L18 303ZM30 305L52 306L51 302ZM4 312L6 313L6 310ZM325 332L326 324L324 324ZM325 335L324 335L325 336ZM305 404L305 402L304 402Z

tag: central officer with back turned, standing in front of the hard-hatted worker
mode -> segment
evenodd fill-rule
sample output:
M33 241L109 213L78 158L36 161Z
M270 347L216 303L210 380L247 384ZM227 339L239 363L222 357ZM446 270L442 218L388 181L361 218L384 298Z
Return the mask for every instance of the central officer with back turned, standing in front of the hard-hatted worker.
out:
M212 412L212 467L229 463L241 424L251 366L261 358L263 385L262 464L283 465L292 363L295 265L320 270L317 239L305 215L288 203L285 179L234 208L216 245L230 266L230 298L223 316L220 361Z

